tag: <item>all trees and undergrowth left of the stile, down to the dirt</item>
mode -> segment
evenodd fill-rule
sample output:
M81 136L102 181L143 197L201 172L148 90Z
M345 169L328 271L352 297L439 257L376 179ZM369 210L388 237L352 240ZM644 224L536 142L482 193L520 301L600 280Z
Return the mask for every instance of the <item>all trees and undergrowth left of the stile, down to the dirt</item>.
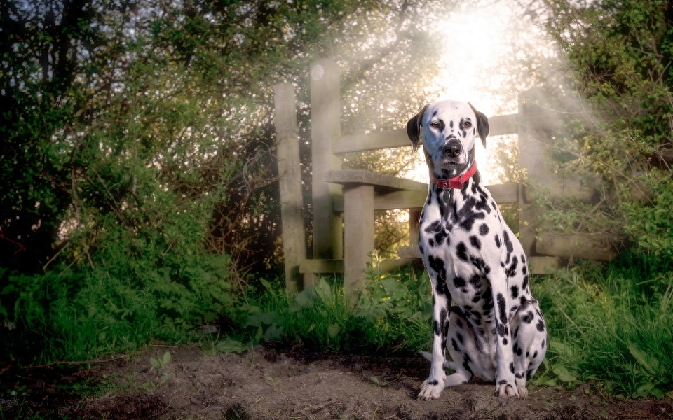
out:
M367 129L391 127L430 59L422 10L1 2L3 359L92 358L232 317L247 274L280 266L272 86L297 87L304 154L314 59L341 64L346 127L383 102Z

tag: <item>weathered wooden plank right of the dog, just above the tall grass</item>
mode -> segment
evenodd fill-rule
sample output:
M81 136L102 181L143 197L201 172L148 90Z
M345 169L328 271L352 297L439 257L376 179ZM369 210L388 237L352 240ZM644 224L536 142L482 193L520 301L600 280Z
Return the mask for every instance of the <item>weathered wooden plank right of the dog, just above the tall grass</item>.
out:
M617 257L620 238L607 233L539 232L535 249L543 255L609 261Z

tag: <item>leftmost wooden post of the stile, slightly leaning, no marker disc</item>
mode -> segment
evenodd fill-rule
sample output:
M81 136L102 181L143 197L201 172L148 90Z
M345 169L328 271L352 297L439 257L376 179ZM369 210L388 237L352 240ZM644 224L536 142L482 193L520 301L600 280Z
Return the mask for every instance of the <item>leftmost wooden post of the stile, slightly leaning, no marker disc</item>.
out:
M273 87L276 107L276 154L280 184L280 218L285 261L285 288L299 288L299 262L306 258L304 204L301 195L301 165L299 165L299 136L297 133L297 104L294 88L289 83Z

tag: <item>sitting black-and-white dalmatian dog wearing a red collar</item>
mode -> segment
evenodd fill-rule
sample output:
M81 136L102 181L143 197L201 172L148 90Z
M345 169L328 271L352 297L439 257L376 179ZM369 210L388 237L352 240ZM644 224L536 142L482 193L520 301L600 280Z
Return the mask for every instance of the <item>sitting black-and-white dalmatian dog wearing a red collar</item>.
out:
M407 122L414 150L423 144L430 170L419 248L433 285L434 333L419 400L435 400L473 377L495 382L498 396L525 398L526 380L547 351L526 255L470 153L477 137L486 146L488 134L488 118L465 102L426 105ZM447 376L446 367L453 373Z

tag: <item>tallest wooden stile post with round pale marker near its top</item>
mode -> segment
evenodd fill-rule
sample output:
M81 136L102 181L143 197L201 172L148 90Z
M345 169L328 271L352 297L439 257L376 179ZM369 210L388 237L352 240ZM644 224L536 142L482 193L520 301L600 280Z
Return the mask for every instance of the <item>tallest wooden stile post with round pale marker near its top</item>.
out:
M329 59L311 64L311 164L313 181L313 258L339 259L344 255L343 223L334 212L341 186L324 181L325 171L341 169L332 153L332 141L341 137L339 65Z

